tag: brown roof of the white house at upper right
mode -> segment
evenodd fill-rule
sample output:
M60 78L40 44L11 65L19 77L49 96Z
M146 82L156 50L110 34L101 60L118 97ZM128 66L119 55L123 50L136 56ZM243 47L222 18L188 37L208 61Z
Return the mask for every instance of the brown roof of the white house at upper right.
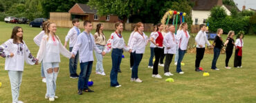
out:
M191 0L194 2L192 10L211 10L215 5L223 5L222 0Z

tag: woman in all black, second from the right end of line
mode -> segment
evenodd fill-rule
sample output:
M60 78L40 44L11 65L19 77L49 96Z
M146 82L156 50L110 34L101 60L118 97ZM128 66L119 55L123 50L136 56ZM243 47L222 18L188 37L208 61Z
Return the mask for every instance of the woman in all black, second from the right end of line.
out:
M224 45L227 46L226 47L226 66L225 66L226 69L231 69L231 67L228 67L228 62L230 60L230 57L232 56L233 48L235 45L235 41L233 39L234 35L235 35L234 31L231 30L230 32L228 32L228 38L224 43Z

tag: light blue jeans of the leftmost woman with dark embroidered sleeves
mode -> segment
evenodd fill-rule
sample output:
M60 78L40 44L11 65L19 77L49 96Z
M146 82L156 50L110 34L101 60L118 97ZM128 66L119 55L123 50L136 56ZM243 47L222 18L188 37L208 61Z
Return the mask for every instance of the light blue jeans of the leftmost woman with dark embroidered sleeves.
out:
M22 82L22 73L23 71L8 71L10 87L12 89L12 102L18 102L19 89Z

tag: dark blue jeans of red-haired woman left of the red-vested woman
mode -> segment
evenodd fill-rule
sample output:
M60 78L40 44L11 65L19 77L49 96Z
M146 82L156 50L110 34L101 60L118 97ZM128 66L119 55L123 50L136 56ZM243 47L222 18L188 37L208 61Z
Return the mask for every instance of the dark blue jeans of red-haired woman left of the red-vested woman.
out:
M136 54L136 52L132 53L132 56L134 56L134 66L131 70L131 78L138 78L138 65L140 65L140 61L143 58L143 54Z

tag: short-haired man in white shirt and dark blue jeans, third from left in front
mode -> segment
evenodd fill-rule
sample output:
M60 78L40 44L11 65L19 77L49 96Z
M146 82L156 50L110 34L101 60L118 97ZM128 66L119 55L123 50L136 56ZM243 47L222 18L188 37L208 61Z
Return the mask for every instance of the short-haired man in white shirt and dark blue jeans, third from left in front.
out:
M72 54L76 55L79 51L80 58L80 75L78 78L78 95L82 95L82 91L94 92L88 87L88 81L93 67L93 49L98 54L105 55L105 52L100 51L94 42L93 35L90 33L93 29L91 21L84 21L84 32L79 34L75 43Z

